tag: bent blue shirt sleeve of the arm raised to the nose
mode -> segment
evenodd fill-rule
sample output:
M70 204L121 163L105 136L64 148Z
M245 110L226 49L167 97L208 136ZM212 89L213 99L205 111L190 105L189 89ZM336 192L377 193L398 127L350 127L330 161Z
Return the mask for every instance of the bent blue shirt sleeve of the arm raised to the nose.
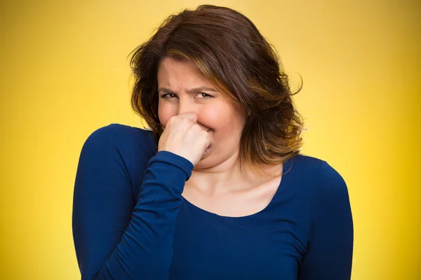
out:
M81 279L168 279L175 219L189 160L150 158L133 201L121 144L94 132L83 144L74 184L72 230Z

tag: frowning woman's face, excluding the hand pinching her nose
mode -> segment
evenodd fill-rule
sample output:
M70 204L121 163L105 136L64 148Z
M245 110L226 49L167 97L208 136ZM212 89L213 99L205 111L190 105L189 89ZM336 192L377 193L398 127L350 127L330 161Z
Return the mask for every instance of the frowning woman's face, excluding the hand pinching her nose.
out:
M207 87L191 91L198 87ZM163 128L168 120L185 112L197 114L197 124L209 130L213 137L213 151L195 168L220 165L239 152L241 132L246 113L206 79L190 62L177 62L169 57L158 69L159 121ZM212 90L213 89L213 90Z

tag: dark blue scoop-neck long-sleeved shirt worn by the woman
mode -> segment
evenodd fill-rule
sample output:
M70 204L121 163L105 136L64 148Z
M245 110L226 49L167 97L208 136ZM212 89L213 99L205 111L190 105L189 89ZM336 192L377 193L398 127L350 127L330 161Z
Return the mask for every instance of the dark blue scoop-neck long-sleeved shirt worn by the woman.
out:
M194 166L156 150L152 132L111 124L81 149L72 230L81 279L350 279L347 185L296 155L269 205L228 217L185 200Z

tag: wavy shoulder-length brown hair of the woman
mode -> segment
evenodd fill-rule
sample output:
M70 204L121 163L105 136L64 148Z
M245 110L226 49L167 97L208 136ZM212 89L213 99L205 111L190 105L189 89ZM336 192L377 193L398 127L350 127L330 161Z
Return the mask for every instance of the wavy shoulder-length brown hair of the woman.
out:
M197 71L250 113L241 135L240 162L273 165L300 153L302 118L288 76L272 44L246 16L201 5L170 15L129 55L135 84L133 110L149 125L158 146L158 67L163 57L192 62Z

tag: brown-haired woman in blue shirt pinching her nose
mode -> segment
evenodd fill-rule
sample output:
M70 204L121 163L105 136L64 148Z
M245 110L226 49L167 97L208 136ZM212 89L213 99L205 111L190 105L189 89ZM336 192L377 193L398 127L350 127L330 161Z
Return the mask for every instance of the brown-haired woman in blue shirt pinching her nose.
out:
M133 53L132 105L83 145L73 234L82 279L350 279L345 181L300 154L276 52L248 18L203 5Z

